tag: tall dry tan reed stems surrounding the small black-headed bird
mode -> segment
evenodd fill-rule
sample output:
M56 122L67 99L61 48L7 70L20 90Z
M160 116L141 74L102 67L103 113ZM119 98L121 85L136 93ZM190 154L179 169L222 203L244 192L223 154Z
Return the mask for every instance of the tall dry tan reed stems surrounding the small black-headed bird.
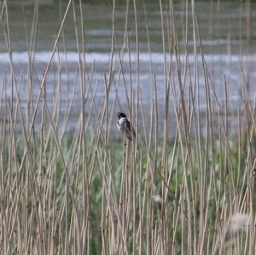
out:
M34 9L34 26L27 32L27 70L16 73L9 5L3 1L1 29L9 52L9 72L1 76L0 101L0 246L4 254L255 253L255 101L242 78L242 103L236 113L231 111L225 79L225 100L219 101L201 49L195 3L184 3L183 38L178 38L172 0L159 2L165 83L158 84L150 68L148 88L140 83L137 1L126 3L122 44L115 30L115 1L109 5L112 45L108 73L102 73L104 96L99 100L95 67L87 65L84 55L81 1L76 5L70 0L61 13L38 97L32 83L38 6ZM65 45L63 28L70 13L80 57L77 80L68 85L73 86L73 95L63 104L61 75L68 75L68 63L60 60L55 67L53 98L47 96L47 78L59 44ZM134 18L136 84L131 79L134 67L128 14ZM144 18L151 55L146 5ZM187 47L191 32L193 70L189 68ZM128 78L123 65L125 54L130 59ZM199 70L204 75L204 112ZM20 96L25 75L26 99ZM125 86L126 105L122 107L137 133L132 142L113 136L120 84ZM158 86L164 86L164 113L160 113ZM81 95L79 119L70 132L67 122L73 118L76 88ZM144 106L143 90L150 90L151 107ZM231 113L237 123L232 132Z

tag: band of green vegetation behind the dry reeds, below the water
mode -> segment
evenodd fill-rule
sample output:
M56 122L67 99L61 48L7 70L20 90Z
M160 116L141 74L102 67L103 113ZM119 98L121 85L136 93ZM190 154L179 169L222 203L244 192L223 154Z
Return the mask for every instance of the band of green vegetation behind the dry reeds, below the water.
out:
M109 231L113 231L113 241L119 241L116 248L129 253L145 252L148 246L158 245L154 241L160 242L157 229L163 228L162 224L165 224L168 252L189 251L187 235L201 241L201 233L205 233L204 242L211 251L218 250L218 241L223 241L223 251L229 251L235 237L241 247L247 246L246 232L230 235L228 229L224 229L230 228L226 224L231 214L255 210L251 193L255 136L242 136L247 141L243 143L242 153L237 139L224 142L215 137L208 148L205 147L207 140L202 139L199 150L195 139L191 139L191 154L186 155L187 159L183 158L182 150L187 153L189 150L177 139L166 144L166 162L161 160L163 140L157 142L154 162L150 162L151 156L147 155L143 143L133 162L134 156L127 150L130 145L124 145L120 139L112 139L107 145L102 141L97 145L92 142L85 147L85 153L79 154L81 144L76 142L77 138L73 134L63 136L61 151L58 151L52 137L46 145L37 136L29 143L35 159L32 167L22 140L14 144L3 139L2 210L6 209L2 220L13 224L9 229L12 253L21 248L15 245L19 238L29 238L34 244L41 243L46 252L56 246L61 253L67 248L85 253L89 249L97 254L103 246L111 249ZM67 172L60 154L65 159ZM8 214L4 214L6 210ZM119 224L124 224L125 229L119 229ZM29 235L21 237L26 229ZM119 233L121 231L123 233ZM66 246L65 239L70 235L74 237L68 238ZM83 246L77 243L81 235ZM146 241L148 238L152 243Z

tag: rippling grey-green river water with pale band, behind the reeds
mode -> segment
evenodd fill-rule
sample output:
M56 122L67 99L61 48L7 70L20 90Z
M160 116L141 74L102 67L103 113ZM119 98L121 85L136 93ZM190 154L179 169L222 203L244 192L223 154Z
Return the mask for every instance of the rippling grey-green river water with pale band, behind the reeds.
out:
M44 67L46 67L51 50L55 42L56 34L61 24L61 17L65 12L67 3L63 2L60 6L58 3L49 4L47 6L39 6L38 8L38 27L37 40L35 47L35 55L32 64L32 93L33 99L36 101L39 95L39 87L42 81ZM125 97L125 84L136 90L137 87L137 49L135 34L135 19L132 5L129 7L127 32L129 34L129 52L125 47L123 55L124 76L121 74L119 64L118 49L122 49L125 36L125 4L117 5L115 10L115 32L117 43L114 44L114 74L113 82L109 94L109 103L113 102L116 95L116 86L118 86L118 100L116 100L116 109L127 110L127 101ZM79 48L82 49L81 26L79 16L79 5L75 7L78 20L79 31ZM47 77L47 101L50 109L54 108L54 99L61 91L61 116L67 113L70 101L74 97L71 107L72 118L68 122L67 129L73 130L77 125L79 113L81 112L81 90L79 79L79 57L85 59L85 68L87 77L85 88L90 92L96 89L96 105L100 105L105 95L105 77L108 78L110 49L112 39L112 23L110 8L107 5L83 4L83 20L84 20L84 49L85 54L79 55L77 50L76 33L74 29L73 10L67 14L67 21L61 34L52 65L49 69ZM175 87L178 96L176 61L173 55L168 53L168 14L167 7L163 6L165 18L165 38L166 38L166 55L163 53L163 43L161 36L161 20L160 7L158 1L137 5L137 22L139 34L139 84L142 90L143 106L147 113L148 107L152 100L152 77L155 75L157 85L157 98L159 103L160 119L164 115L165 107L165 84L166 77L164 75L164 61L166 57L167 65L173 64L172 84ZM195 63L194 40L191 18L191 6L189 6L189 32L188 45L184 45L185 34L185 3L180 1L175 3L175 16L177 26L177 38L181 54L182 65L185 62L185 49L188 49L188 61L193 80L193 70ZM21 80L20 101L26 105L28 90L28 62L29 51L32 51L33 41L32 30L34 19L33 6L21 4L9 5L9 32L11 39L12 60L15 67L15 77L17 81L20 79L20 73L23 73ZM147 13L147 21L145 18L145 10ZM256 32L253 29L256 23L256 4L239 3L235 1L229 2L197 2L195 3L195 11L201 36L201 47L204 57L207 61L207 67L211 74L212 87L217 93L218 101L224 101L224 83L227 84L230 107L235 110L241 107L241 84L245 79L249 88L252 99L254 97L255 84L255 46ZM148 53L147 30L150 38L150 54ZM6 42L3 37L3 26L0 33L0 73L1 87L3 83L7 84L7 96L12 95L11 75L9 67L9 54L7 53ZM32 39L31 39L32 38ZM198 46L198 45L197 45ZM29 50L28 50L29 49ZM130 62L131 61L131 62ZM200 110L203 112L205 105L205 81L203 76L201 55L197 56L198 61L198 87L200 97ZM60 65L61 63L61 65ZM61 66L61 67L60 67ZM129 71L131 67L131 72ZM89 80L90 70L93 68L92 78ZM151 74L150 74L151 73ZM244 75L244 78L243 78ZM4 81L4 82L3 82ZM167 80L168 81L168 80ZM189 86L189 77L186 78L186 86ZM85 110L90 107L91 94L88 93L88 101L86 101ZM170 104L172 108L172 103ZM172 113L174 114L174 113ZM96 112L95 112L96 115Z

